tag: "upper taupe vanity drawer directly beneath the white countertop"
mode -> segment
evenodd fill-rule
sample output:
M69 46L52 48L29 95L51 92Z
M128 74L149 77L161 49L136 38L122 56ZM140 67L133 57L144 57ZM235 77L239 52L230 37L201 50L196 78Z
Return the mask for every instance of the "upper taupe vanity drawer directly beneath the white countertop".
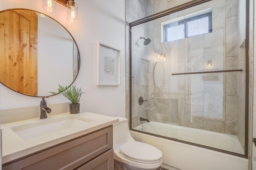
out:
M20 168L15 170L70 170L74 169L113 147L113 127L106 127L72 139L60 145L31 154L14 162L3 170L13 170L12 165Z

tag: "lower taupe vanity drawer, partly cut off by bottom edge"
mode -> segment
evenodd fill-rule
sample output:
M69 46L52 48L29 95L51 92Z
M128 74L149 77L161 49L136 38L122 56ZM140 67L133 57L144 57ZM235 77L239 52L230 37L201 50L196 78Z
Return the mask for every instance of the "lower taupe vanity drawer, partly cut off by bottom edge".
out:
M86 164L76 168L76 170L114 170L113 149L104 152Z

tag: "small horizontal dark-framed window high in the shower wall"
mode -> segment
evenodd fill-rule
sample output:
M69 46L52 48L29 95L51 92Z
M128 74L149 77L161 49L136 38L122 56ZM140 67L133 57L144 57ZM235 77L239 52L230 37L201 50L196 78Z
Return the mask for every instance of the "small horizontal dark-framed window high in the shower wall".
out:
M162 42L173 41L212 32L212 8L164 21Z

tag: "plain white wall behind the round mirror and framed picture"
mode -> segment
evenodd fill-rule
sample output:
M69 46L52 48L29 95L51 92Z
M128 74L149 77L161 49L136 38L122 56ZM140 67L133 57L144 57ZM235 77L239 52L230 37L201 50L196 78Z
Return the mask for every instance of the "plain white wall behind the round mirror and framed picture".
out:
M81 56L81 68L74 82L86 94L80 100L81 110L110 116L125 116L125 0L76 0L78 23L66 20L66 8L57 4L56 13L42 9L41 0L5 0L0 11L28 8L48 14L62 23L74 37ZM96 42L120 49L121 85L96 86ZM63 77L64 78L64 77ZM46 82L49 83L49 82ZM18 94L0 84L0 109L36 106L41 98ZM47 98L48 104L66 102L61 96Z

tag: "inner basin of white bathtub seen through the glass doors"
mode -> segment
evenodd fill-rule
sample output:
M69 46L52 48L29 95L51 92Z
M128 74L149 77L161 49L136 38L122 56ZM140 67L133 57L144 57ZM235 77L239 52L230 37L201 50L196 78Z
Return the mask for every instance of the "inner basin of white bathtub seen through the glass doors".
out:
M208 147L214 147L230 152L244 154L244 149L235 135L194 129L166 123L150 121L142 123L134 129L154 133L157 135L171 137L182 141L197 143Z

